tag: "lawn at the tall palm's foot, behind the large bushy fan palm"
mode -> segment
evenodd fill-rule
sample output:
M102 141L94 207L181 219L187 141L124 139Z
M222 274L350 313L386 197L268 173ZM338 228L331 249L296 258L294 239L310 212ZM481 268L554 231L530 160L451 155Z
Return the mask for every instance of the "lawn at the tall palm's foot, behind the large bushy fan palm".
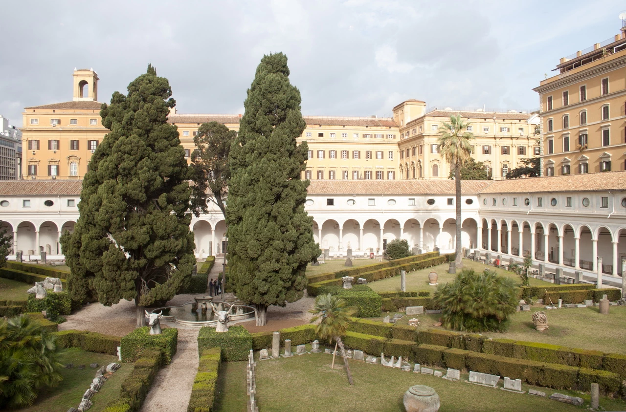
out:
M515 280L516 283L520 283L520 277L513 272L507 271L505 269L495 268L493 266L486 266L484 263L478 263L475 261L471 261L469 259L463 259L464 268L474 269L476 272L481 273L485 270L485 268L489 268L491 270L495 270L500 276L505 276L507 278L511 278ZM433 266L432 268L421 269L414 272L409 272L406 274L406 290L418 291L418 290L429 290L434 292L437 288L436 286L429 286L428 284L428 274L431 271L435 271L439 275L438 283L448 283L452 281L456 274L448 273L448 263L440 264L439 266ZM457 271L460 271L458 269ZM535 278L529 279L531 286L546 286L550 283L540 281ZM376 282L368 283L367 286L372 288L375 292L399 292L400 291L400 276L396 276L394 278L389 279L381 279Z

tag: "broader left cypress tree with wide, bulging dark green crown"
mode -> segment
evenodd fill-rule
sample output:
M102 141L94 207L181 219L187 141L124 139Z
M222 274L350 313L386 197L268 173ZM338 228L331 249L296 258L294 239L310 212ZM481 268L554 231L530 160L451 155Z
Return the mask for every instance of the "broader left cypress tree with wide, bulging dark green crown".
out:
M126 96L115 92L103 104L110 133L85 174L74 233L61 237L72 298L97 296L105 306L135 299L138 327L144 307L173 298L195 264L187 161L167 123L171 96L150 65Z

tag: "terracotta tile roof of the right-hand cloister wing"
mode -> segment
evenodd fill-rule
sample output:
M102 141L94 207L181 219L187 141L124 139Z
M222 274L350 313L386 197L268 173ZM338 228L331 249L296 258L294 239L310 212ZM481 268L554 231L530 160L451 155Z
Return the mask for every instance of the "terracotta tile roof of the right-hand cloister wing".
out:
M626 171L498 180L491 183L480 191L480 193L545 193L609 190L626 190Z

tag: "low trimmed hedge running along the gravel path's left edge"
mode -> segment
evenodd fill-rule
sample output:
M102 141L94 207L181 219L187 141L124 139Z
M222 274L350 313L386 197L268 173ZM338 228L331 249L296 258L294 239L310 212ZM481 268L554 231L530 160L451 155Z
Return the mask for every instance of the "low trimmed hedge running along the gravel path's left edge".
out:
M103 412L138 411L148 391L150 391L156 373L161 368L162 359L163 356L159 349L145 349L140 358L136 359L133 371L121 384L120 397L110 401Z

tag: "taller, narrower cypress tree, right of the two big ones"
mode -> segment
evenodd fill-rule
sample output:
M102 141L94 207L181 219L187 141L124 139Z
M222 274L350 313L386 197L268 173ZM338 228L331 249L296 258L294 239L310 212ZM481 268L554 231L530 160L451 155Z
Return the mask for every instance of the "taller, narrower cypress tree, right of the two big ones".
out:
M308 180L300 179L307 144L296 144L306 126L300 91L289 83L287 56L261 59L239 134L230 149L228 276L239 299L267 306L302 298L307 264L319 254L313 219L304 211Z

